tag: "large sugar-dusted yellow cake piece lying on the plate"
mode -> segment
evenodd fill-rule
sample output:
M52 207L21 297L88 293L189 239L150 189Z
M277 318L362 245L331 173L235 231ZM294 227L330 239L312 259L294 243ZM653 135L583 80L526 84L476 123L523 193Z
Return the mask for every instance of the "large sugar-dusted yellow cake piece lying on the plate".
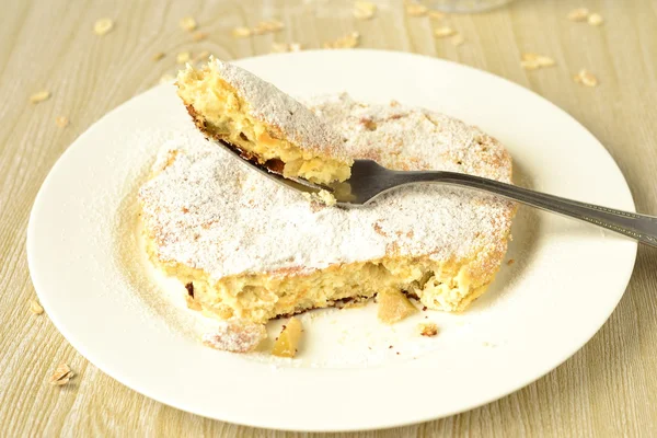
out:
M346 94L308 105L347 139L348 159L511 182L504 147L454 118ZM215 145L185 139L163 147L139 199L150 257L181 280L191 307L254 323L382 291L462 311L495 278L515 215L499 197L437 184L362 208L322 206Z

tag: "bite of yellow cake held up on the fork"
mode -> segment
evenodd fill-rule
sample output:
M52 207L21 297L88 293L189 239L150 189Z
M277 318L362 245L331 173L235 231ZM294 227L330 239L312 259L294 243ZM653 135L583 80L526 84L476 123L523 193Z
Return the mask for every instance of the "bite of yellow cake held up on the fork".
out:
M344 139L306 106L218 59L178 73L177 93L196 126L286 177L327 184L350 175Z

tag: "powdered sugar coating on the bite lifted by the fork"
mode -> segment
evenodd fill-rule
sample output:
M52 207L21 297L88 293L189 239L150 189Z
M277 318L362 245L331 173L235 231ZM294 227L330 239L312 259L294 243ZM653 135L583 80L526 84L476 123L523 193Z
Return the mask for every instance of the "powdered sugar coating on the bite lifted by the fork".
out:
M240 67L219 59L210 62L214 62L221 79L234 88L240 97L247 103L251 116L279 129L284 138L301 149L335 159L349 158L338 132L306 106Z

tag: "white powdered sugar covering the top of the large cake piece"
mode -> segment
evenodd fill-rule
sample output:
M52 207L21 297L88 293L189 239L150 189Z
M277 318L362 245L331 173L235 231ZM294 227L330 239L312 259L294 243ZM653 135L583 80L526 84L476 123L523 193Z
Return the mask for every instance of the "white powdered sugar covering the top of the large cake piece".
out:
M447 116L368 106L346 95L315 100L312 107L345 134L353 158L376 157L395 169L461 170L510 180L503 147ZM364 117L377 128L364 128ZM487 253L506 249L512 206L494 196L424 185L389 193L365 208L318 209L209 142L176 139L161 153L170 157L172 151L173 161L161 169L161 172L140 191L143 219L162 261L184 263L212 278L310 272L393 253L438 261L483 254L477 260L485 261Z

